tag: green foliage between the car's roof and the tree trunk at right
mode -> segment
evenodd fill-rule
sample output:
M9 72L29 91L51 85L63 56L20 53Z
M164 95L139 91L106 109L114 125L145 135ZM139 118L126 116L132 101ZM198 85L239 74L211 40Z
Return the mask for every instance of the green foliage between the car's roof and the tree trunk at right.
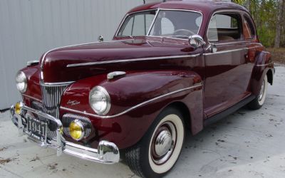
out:
M233 2L245 6L247 9L249 9L257 26L257 33L261 43L267 47L274 46L279 1L233 0Z

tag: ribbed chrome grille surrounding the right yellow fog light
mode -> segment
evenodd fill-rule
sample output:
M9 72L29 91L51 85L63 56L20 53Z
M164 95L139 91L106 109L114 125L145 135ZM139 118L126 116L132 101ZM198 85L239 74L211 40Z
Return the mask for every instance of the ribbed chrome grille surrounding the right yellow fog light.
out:
M84 126L84 131L85 131L85 135L84 137L88 137L91 133L91 122L89 120L88 117L83 117L81 115L74 115L74 114L65 114L63 115L62 118L62 123L63 123L63 132L66 134L66 136L70 137L70 132L69 132L69 124L73 121L73 120L80 120L83 123Z

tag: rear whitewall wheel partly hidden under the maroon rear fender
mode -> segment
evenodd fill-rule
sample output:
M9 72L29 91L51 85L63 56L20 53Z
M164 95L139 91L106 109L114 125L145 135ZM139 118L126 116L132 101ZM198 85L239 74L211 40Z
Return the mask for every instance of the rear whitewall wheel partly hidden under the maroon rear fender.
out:
M262 105L264 105L267 93L267 87L268 87L268 80L267 80L267 75L265 75L262 81L259 95L257 96L257 98L252 100L251 103L249 103L249 108L251 108L252 110L258 110L259 108L262 107Z

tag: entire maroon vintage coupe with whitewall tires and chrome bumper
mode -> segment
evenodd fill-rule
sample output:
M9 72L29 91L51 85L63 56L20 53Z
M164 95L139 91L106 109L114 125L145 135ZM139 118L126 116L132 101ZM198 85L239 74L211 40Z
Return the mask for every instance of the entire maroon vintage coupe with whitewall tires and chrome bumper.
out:
M185 130L264 104L274 63L247 9L222 1L166 1L132 9L113 41L46 52L16 75L19 132L61 155L161 177Z

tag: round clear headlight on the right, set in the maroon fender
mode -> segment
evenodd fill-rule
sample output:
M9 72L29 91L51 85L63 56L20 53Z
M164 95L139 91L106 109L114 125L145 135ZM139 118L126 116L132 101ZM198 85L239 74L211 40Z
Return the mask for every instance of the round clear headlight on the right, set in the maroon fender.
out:
M105 115L111 107L110 95L105 88L97 86L90 91L89 103L98 115Z

